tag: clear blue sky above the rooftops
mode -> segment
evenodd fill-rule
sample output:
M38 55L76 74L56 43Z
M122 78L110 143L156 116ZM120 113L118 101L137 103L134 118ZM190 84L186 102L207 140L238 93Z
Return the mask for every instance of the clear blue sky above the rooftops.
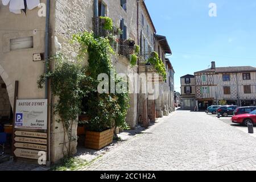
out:
M255 0L146 0L156 34L167 36L172 49L175 89L180 76L216 67L256 67ZM217 17L210 17L210 3Z

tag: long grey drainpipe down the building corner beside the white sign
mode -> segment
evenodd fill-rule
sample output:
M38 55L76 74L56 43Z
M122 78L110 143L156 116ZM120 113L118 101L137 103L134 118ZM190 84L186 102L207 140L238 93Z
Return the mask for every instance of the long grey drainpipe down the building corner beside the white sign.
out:
M45 73L48 72L48 64L49 64L49 0L46 1L46 35L45 35L45 52L44 52L44 57L45 57ZM51 108L50 108L50 102L49 100L49 81L46 78L46 90L45 90L45 98L48 100L48 105L47 105L47 165L50 164L51 162L51 155L50 155L50 125L51 125Z

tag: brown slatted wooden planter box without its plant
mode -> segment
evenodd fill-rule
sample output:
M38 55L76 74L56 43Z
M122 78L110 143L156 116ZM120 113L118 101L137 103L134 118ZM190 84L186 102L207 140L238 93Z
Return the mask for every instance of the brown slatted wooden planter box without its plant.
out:
M100 150L113 142L114 129L102 132L86 131L85 147Z

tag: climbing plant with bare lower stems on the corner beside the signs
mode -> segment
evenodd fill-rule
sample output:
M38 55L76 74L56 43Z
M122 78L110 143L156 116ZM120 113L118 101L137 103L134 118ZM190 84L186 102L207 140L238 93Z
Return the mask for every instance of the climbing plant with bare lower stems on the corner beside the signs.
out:
M77 115L81 113L81 101L92 88L81 85L90 79L85 75L85 69L80 64L75 64L57 54L51 57L50 61L55 61L55 70L40 76L38 87L43 88L46 79L51 79L51 89L53 96L59 100L53 105L53 113L59 115L57 122L64 128L63 154L71 155L71 142L76 138L72 136L73 123L77 121ZM66 135L68 142L65 142ZM66 148L67 150L64 150Z

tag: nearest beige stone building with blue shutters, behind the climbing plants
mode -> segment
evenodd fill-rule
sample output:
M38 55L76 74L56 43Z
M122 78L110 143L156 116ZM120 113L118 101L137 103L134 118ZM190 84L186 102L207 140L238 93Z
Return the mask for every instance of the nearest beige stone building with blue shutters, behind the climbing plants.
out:
M64 142L64 129L56 122L57 117L50 107L57 98L49 92L49 87L39 89L37 85L40 75L46 71L47 58L61 52L70 60L76 61L77 48L70 44L72 35L85 30L98 32L96 22L99 16L109 16L113 19L114 26L123 31L123 34L117 37L119 40L115 49L117 55L112 57L117 73L128 75L145 72L145 67L142 69L138 66L131 67L129 56L122 50L127 49L126 40L134 40L135 44L141 46L139 57L146 59L148 52L154 50L156 30L143 1L35 0L35 2L40 3L39 6L27 9L26 14L22 10L24 7L13 11L0 3L0 114L1 118L4 116L8 119L12 118L15 98L18 100L47 98L47 160L56 162L63 158L61 143ZM83 64L87 64L86 61ZM18 85L15 86L16 81ZM17 97L15 89L18 91ZM143 113L143 109L140 108L146 103L144 101L147 96L144 95L143 98L143 101L138 102L139 94L130 94L130 108L126 121L132 128L138 125L138 112ZM72 133L77 135L76 127ZM73 141L73 154L76 153L76 146L77 142Z

